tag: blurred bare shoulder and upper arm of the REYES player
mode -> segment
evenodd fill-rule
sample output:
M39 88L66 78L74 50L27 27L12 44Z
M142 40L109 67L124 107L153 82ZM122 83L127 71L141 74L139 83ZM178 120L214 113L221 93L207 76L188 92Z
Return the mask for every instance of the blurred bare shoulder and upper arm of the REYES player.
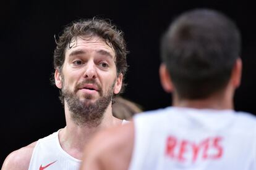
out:
M101 131L85 148L80 170L128 169L133 147L133 122Z

